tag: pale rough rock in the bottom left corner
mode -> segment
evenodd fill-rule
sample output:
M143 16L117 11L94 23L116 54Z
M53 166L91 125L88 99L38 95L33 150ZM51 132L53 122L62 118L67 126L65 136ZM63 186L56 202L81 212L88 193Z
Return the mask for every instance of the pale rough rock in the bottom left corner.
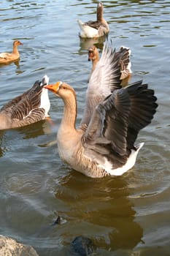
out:
M0 235L0 256L39 256L32 246L20 244Z

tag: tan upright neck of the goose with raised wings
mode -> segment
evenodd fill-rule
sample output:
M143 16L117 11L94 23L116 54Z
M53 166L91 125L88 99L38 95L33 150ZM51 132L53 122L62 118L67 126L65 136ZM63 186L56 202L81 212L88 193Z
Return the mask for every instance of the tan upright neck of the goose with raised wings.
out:
M72 97L63 99L63 118L61 121L61 128L64 130L75 130L76 118L77 118L77 102L76 96L72 94Z

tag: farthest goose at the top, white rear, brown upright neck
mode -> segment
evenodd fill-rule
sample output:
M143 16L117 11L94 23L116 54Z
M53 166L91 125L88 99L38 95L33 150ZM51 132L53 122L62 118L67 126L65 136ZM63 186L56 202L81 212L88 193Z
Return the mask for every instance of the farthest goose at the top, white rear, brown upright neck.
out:
M109 25L103 17L104 6L101 2L97 5L96 21L89 20L82 23L81 20L77 20L80 26L80 37L93 38L103 37L109 33Z

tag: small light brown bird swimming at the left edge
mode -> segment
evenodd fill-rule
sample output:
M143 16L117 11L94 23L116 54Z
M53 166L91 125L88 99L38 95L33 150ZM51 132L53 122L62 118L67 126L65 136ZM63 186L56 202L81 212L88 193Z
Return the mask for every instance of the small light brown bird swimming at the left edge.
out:
M12 53L0 53L0 64L7 64L12 61L20 59L20 53L18 51L18 45L23 45L19 40L13 42Z

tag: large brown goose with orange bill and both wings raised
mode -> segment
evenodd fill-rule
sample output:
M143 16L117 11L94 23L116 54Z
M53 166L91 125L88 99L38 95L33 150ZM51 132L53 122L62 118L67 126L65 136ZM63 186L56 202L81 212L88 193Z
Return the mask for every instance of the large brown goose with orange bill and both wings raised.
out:
M150 124L158 105L154 91L142 81L120 87L120 59L115 50L104 47L90 78L79 129L75 127L74 89L61 81L45 88L64 102L57 135L58 153L64 162L95 178L120 176L134 166L144 144L134 146L135 140L140 129Z

